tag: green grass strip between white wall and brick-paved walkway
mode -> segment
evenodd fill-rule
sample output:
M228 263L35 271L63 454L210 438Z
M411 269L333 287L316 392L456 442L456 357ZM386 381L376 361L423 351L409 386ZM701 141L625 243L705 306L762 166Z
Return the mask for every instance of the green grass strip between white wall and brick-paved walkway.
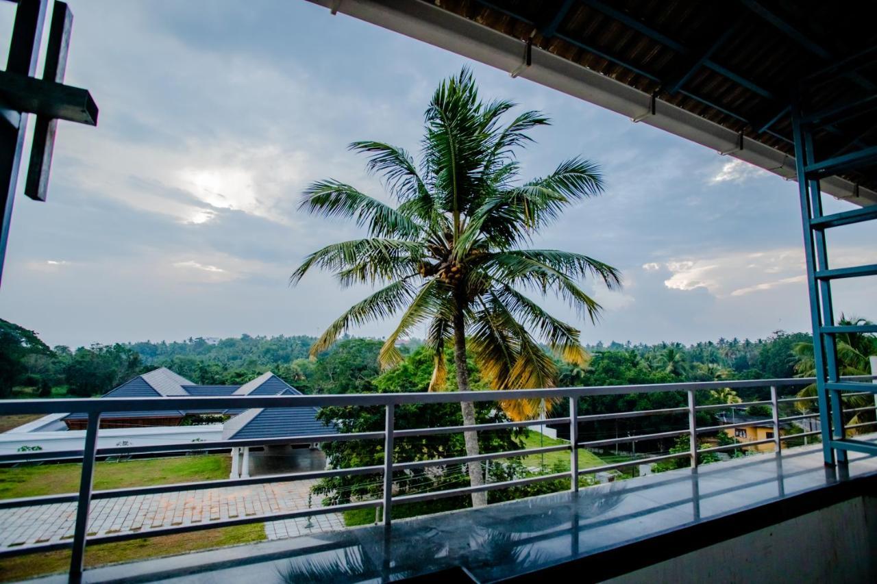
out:
M148 487L225 479L231 466L231 457L223 454L103 461L96 464L94 488ZM75 493L79 490L81 471L82 465L78 464L0 468L0 499Z

